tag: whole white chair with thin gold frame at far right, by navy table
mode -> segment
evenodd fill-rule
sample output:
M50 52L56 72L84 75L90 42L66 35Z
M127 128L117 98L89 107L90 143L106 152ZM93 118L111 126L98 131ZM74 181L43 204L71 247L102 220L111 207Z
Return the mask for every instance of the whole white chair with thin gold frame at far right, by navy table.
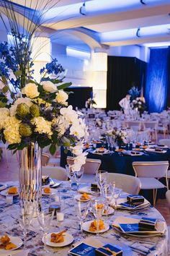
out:
M133 162L135 176L140 179L141 189L153 189L153 205L156 205L157 189L169 189L167 171L169 161ZM166 186L158 179L166 178Z

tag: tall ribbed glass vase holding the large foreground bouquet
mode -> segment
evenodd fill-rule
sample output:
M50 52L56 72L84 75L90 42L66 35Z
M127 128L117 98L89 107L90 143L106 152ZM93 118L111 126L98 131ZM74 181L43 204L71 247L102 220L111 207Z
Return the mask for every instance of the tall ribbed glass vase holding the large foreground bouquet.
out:
M37 142L19 150L19 200L25 205L27 214L36 206L40 208L42 198L42 150ZM26 209L25 209L26 210Z

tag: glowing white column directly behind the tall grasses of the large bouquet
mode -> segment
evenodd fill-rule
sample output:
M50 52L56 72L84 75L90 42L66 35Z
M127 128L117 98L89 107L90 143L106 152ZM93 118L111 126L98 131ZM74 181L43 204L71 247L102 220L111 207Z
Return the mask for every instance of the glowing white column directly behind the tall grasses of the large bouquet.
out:
M35 69L34 77L37 82L40 82L40 69L45 67L45 64L51 61L51 43L50 38L34 37L32 39L32 59L34 61L34 66L32 69Z

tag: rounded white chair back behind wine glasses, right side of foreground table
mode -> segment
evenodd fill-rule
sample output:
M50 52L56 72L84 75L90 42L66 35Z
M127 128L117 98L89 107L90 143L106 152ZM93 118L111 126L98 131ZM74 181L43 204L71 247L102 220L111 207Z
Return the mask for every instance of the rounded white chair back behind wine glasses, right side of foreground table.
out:
M108 182L115 182L116 187L121 187L124 192L129 194L138 195L140 192L140 179L135 176L126 175L126 174L107 174Z

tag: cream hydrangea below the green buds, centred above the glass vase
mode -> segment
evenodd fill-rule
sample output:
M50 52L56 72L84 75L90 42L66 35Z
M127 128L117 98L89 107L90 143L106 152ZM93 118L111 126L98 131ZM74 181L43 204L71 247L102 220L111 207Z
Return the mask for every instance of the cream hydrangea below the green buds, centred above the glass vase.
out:
M51 121L46 121L42 116L35 117L32 119L32 124L35 124L35 132L38 132L40 134L45 133L48 136L53 135L53 132L51 131Z

